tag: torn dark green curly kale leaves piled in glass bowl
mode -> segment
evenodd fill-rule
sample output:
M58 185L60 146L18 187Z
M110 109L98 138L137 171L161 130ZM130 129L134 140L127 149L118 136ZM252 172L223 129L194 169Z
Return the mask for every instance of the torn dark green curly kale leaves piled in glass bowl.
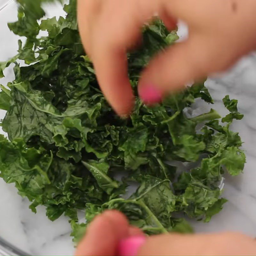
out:
M189 118L185 110L196 99L213 104L201 81L151 108L136 97L131 118L120 119L83 50L76 1L64 6L65 18L41 22L46 1L18 2L18 21L9 28L27 41L0 63L0 77L11 63L15 73L0 92L0 108L7 111L1 126L8 133L8 139L0 136L0 176L28 197L31 210L45 205L50 220L65 214L76 242L87 225L78 223L78 210L86 210L89 223L105 209L118 209L148 234L192 232L183 217L209 221L218 213L226 202L219 188L223 173L238 175L245 163L241 139L229 130L233 119L243 117L237 101L223 99L227 125L214 109ZM38 37L40 30L48 36ZM150 58L178 39L160 20L145 26L142 36L141 48L127 54L135 93ZM20 60L28 65L21 67ZM176 173L173 160L200 163ZM138 188L127 198L130 182Z

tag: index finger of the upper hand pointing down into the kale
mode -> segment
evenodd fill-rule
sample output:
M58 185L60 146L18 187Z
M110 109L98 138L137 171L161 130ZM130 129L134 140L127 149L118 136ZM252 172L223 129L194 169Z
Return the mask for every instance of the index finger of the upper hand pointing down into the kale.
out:
M119 116L129 115L134 105L126 51L138 40L141 26L153 16L155 8L156 4L145 4L144 0L109 0L95 26L94 68L103 94Z

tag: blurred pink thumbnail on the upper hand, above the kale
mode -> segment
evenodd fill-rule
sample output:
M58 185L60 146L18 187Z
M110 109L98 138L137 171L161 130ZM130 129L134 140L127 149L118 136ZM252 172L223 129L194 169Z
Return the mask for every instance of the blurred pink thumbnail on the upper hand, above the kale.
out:
M159 103L162 100L162 93L153 84L139 86L140 99L147 105Z

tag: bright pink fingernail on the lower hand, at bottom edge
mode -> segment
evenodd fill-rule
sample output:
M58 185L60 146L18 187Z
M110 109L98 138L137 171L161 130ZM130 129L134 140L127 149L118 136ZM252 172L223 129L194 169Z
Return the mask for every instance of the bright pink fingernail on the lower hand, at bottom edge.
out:
M139 249L146 241L145 236L131 236L122 240L118 246L118 255L136 256Z

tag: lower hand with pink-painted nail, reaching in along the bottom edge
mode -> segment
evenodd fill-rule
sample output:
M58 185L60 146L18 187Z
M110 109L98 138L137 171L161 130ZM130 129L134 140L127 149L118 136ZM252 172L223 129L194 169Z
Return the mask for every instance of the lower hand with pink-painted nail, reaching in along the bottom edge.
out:
M120 243L129 237L136 237L137 243L129 248L129 253L118 254ZM198 235L172 233L146 238L138 228L129 226L122 213L107 211L92 221L77 247L76 256L132 255L132 251L133 255L255 255L256 241L231 232Z

